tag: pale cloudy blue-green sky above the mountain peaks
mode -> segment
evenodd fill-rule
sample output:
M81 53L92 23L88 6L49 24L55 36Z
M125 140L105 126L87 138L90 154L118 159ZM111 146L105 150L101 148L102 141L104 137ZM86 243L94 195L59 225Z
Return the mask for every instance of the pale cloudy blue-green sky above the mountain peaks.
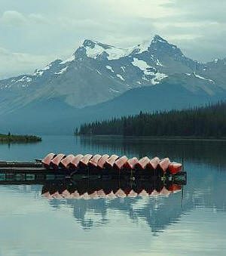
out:
M0 79L72 55L84 39L129 47L157 34L201 62L226 57L225 0L1 0Z

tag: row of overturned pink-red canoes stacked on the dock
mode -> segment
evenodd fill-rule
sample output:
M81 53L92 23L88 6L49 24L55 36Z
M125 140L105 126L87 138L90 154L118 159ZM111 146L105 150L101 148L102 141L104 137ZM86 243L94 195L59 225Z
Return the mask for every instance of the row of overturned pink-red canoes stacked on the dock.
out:
M49 153L41 160L44 168L63 168L63 169L78 169L78 168L99 168L99 169L116 169L116 170L159 170L170 174L176 174L182 171L182 164L170 162L169 158L159 159L154 157L149 159L148 156L137 159L133 157L128 159L127 156L111 155L82 155L76 156L70 154L68 156L60 153Z

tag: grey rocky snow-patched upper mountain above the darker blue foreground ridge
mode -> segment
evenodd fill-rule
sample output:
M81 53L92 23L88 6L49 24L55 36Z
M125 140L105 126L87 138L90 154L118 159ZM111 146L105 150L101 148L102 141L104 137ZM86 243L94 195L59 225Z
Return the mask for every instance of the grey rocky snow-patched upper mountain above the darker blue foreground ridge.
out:
M0 81L0 114L43 98L60 97L69 106L82 108L131 88L158 85L178 73L191 75L206 92L215 94L216 86L226 88L225 62L198 63L159 35L124 49L85 40L67 60L55 60L32 75Z

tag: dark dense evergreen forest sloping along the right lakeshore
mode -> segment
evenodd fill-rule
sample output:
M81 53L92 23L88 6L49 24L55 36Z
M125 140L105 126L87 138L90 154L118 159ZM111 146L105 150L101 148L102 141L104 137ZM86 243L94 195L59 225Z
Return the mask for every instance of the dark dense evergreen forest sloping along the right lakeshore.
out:
M226 103L85 123L75 134L226 137Z

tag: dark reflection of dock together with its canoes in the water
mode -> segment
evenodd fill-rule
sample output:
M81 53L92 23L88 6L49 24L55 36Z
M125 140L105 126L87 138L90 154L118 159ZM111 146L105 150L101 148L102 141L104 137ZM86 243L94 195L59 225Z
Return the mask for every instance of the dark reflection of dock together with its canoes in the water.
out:
M42 184L48 199L116 199L136 196L170 196L182 190L186 176L118 177L112 175L0 174L0 184Z

